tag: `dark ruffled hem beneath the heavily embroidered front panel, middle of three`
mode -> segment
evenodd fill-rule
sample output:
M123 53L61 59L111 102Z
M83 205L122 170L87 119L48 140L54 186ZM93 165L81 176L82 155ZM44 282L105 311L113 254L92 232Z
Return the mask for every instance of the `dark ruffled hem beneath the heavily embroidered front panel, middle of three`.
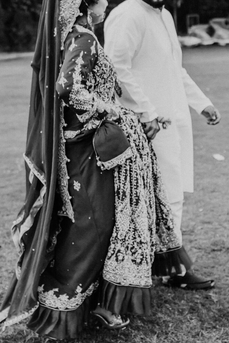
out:
M115 314L150 315L151 292L149 287L118 286L103 280L100 289L100 306Z

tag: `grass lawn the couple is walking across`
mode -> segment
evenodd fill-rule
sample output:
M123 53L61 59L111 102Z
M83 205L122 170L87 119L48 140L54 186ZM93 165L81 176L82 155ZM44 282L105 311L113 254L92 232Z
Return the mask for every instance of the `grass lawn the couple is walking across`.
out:
M210 291L152 287L150 317L131 317L121 332L99 329L93 322L75 343L228 343L229 342L229 47L184 50L184 66L221 112L222 121L208 126L192 114L195 157L195 193L185 196L183 238L195 270L214 277ZM16 251L10 227L25 196L22 153L31 84L30 60L0 62L1 197L0 300L11 279ZM214 153L225 156L218 162ZM0 332L1 343L44 343L26 329L25 322Z

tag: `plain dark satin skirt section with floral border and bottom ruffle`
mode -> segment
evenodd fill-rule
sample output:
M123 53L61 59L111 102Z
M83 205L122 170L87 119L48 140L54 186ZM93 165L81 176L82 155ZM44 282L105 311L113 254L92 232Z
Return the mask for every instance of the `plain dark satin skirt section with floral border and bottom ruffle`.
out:
M28 323L38 334L56 339L76 338L97 303L94 293L114 227L113 170L102 171L96 165L92 135L78 135L65 144L75 222L61 217L55 257L39 283L41 305ZM60 296L62 304L56 307ZM72 305L71 299L78 300Z

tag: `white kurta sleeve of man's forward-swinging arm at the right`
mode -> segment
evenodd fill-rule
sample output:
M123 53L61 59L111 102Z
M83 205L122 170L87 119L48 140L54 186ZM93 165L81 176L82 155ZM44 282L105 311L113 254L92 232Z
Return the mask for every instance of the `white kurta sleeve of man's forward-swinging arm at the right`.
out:
M201 114L207 106L213 106L210 99L200 90L184 68L182 68L181 73L188 105L196 110L198 114Z

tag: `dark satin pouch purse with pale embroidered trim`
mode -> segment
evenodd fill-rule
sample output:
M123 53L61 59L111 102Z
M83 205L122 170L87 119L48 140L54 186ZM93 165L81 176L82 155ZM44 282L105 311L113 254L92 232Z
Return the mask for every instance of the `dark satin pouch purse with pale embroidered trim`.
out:
M93 136L97 165L102 170L122 165L133 156L124 131L112 120L103 120Z

